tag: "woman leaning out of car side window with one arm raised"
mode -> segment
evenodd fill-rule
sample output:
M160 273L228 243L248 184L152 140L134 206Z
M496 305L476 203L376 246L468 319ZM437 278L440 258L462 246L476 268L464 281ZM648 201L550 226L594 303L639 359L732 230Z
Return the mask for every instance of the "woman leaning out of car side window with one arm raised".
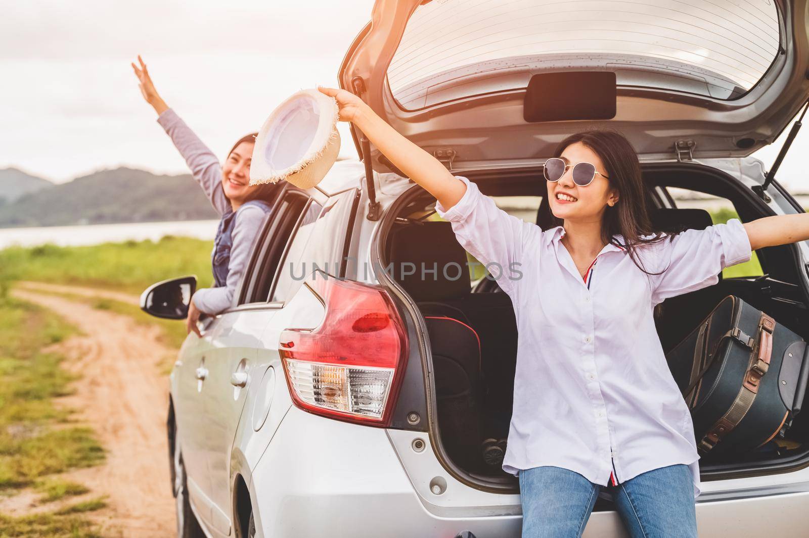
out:
M248 263L252 241L269 212L277 185L268 183L251 187L249 184L250 161L258 133L239 138L227 152L224 164L219 164L214 152L160 97L140 56L138 64L133 62L132 69L138 77L143 99L155 109L158 123L172 138L210 204L222 216L211 252L214 288L203 288L194 293L185 320L188 332L193 330L201 336L197 328L201 313L213 315L231 306L236 286Z

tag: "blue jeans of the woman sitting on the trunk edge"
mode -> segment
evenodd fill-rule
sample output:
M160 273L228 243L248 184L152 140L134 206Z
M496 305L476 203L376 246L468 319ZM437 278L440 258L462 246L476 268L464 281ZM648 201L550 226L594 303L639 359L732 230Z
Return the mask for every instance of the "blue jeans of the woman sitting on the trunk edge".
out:
M523 538L578 538L602 486L559 467L519 472ZM688 465L637 475L609 489L633 538L697 538L697 513Z

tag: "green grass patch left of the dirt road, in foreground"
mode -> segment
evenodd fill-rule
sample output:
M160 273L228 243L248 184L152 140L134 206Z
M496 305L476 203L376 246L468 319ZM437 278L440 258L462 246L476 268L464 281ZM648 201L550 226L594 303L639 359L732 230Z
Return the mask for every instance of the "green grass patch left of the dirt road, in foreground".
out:
M25 487L40 492L40 502L84 494L83 485L51 475L104 460L93 431L72 425L70 412L53 405L74 378L61 369L61 356L44 348L75 333L39 306L0 296L0 495ZM100 538L78 514L103 506L95 499L54 513L0 514L0 537Z

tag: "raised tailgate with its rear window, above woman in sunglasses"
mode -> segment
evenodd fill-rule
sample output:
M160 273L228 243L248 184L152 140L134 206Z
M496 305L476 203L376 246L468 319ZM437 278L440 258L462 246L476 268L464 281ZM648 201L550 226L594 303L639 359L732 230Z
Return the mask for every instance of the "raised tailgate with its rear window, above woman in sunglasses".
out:
M451 170L540 165L582 125L621 131L642 159L744 157L809 97L806 12L807 0L377 0L338 77ZM582 94L605 74L611 88Z

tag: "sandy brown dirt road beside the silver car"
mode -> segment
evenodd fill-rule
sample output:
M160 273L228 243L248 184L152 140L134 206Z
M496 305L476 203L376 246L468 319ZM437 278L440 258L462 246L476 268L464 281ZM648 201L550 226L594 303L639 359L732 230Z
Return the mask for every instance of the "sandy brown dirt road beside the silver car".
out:
M59 288L76 292L72 287ZM80 289L87 294L87 288ZM95 496L108 496L109 508L100 513L102 535L175 536L165 427L168 380L158 367L171 351L158 342L159 329L49 296L41 286L13 293L53 310L84 334L57 345L66 356L65 368L81 376L74 383L75 393L61 398L61 403L78 410L75 418L97 432L108 452L105 464L68 473L66 478L87 485Z

